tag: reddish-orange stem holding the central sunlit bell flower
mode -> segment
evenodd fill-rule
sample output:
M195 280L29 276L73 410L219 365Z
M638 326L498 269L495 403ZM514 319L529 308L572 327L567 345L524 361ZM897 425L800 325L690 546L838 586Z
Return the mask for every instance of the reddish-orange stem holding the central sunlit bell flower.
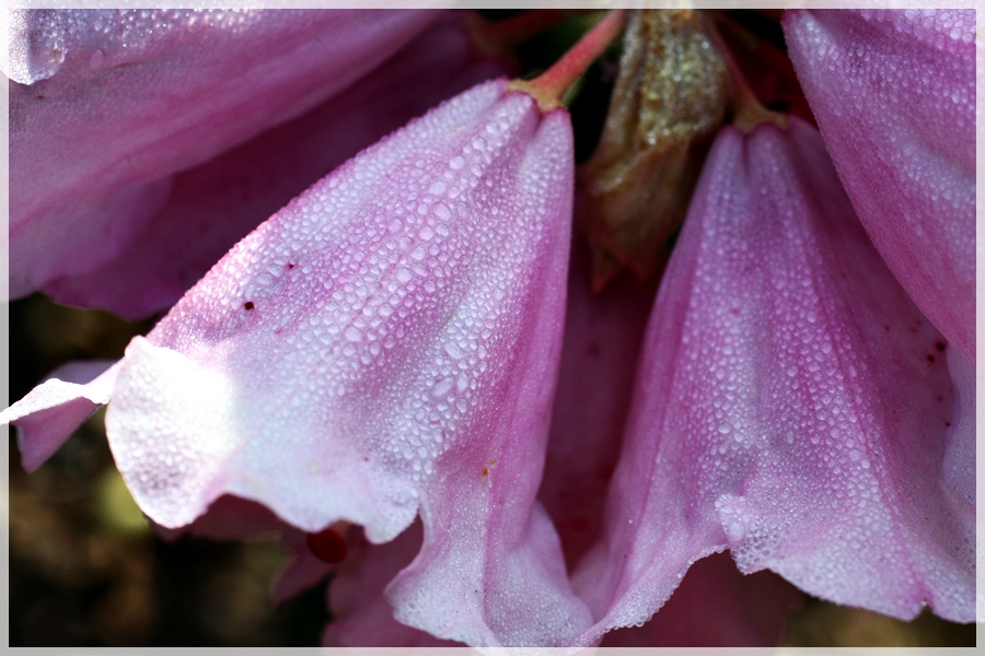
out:
M588 67L598 59L605 48L623 31L626 20L626 10L615 9L599 21L594 27L588 31L575 47L565 52L565 56L555 62L549 69L533 80L513 80L510 89L522 91L537 102L542 112L551 112L561 105L565 92L578 81Z

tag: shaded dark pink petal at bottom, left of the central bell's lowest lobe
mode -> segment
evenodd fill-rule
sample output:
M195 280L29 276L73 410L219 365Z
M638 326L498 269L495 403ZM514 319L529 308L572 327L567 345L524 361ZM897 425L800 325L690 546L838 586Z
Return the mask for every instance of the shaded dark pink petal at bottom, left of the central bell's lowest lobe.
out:
M420 551L424 529L412 524L396 539L371 544L358 529L348 536L349 554L328 587L333 620L325 626L326 647L452 647L461 643L440 640L401 624L383 590Z

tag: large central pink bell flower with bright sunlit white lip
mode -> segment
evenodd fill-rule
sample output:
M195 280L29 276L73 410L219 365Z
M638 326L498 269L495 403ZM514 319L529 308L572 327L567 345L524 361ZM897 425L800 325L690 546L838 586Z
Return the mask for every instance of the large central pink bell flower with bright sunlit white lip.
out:
M141 508L177 526L230 493L303 530L362 525L373 542L420 509L422 552L390 591L402 621L476 644L580 632L587 611L533 505L571 141L565 112L484 84L240 242L127 350L106 421ZM530 605L554 621L514 612Z

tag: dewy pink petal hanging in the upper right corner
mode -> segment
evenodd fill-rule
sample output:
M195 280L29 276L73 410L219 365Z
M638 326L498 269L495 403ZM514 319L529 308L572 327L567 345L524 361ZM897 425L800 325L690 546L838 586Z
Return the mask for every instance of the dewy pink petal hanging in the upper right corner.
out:
M791 11L784 30L866 231L974 362L974 10Z

